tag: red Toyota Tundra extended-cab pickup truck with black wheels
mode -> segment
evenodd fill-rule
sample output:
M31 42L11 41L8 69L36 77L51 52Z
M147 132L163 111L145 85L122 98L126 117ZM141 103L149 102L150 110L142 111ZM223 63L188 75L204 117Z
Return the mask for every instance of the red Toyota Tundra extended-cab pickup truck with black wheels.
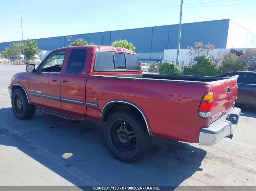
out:
M236 79L142 74L135 52L118 47L59 48L26 71L8 87L16 118L37 109L106 123L108 148L124 162L147 154L152 136L199 145L232 138L241 113Z

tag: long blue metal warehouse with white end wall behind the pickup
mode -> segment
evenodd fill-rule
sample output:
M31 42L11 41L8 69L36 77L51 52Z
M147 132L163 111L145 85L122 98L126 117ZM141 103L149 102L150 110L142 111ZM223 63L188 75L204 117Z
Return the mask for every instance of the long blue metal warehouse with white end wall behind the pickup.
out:
M71 43L82 38L95 45L110 46L115 40L128 40L135 47L141 62L159 62L163 58L165 49L177 49L178 24L145 27L127 30L115 30L98 33L71 35ZM241 38L242 36L242 38ZM239 38L238 38L239 37ZM42 50L53 50L68 46L66 36L34 39ZM215 48L256 48L256 37L248 30L234 23L230 19L204 21L182 24L181 49L193 46L195 41L210 43ZM253 42L254 41L254 42ZM21 42L21 41L14 41ZM0 43L0 51L13 42Z

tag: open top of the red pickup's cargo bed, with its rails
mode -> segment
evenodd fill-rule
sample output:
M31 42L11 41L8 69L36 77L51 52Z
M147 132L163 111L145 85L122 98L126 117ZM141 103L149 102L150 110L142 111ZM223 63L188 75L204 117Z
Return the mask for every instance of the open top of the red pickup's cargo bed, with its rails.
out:
M190 76L190 75L161 75L161 74L126 74L126 75L97 75L112 78L129 78L138 80L161 80L178 83L193 84L215 84L230 81L232 78L210 77L210 76Z

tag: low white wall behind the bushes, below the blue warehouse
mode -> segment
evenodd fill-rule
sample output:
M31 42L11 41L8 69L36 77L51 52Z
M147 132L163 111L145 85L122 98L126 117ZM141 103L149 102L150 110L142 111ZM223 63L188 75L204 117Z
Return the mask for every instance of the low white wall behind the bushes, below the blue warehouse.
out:
M256 48L254 48L256 49ZM228 49L213 49L215 56L217 56L219 51L222 51L224 54L228 53L231 50L231 48ZM247 50L247 48L238 48L237 50L243 50L243 52L245 52ZM188 65L188 49L180 49L180 53L179 53L179 65L178 68L181 69L181 63L184 62L184 66ZM167 49L164 52L164 62L165 61L173 61L174 63L176 63L176 56L177 56L177 49Z

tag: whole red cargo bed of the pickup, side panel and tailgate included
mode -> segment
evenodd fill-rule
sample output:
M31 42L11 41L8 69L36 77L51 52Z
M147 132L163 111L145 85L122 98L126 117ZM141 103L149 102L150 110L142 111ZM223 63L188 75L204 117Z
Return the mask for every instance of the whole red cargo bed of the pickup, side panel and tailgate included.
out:
M97 94L99 108L88 107L86 113L89 118L100 120L101 107L109 100L126 100L145 113L153 135L197 143L200 129L207 127L234 106L236 84L234 78L207 76L89 75L86 81L86 100L91 99L91 93ZM227 93L227 88L231 93ZM198 116L200 103L204 94L211 91L212 116L216 117L202 119Z

